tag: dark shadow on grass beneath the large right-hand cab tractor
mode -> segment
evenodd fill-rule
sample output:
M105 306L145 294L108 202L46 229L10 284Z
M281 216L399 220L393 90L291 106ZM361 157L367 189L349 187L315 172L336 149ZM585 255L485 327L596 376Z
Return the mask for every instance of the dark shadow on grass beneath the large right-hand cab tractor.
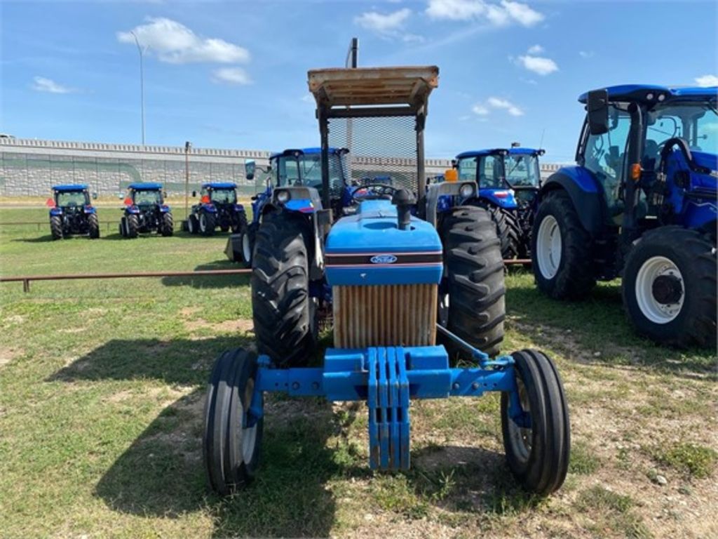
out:
M623 309L620 281L600 283L583 301L552 300L526 276L506 292L508 328L528 333L540 346L585 364L651 369L679 377L715 376L715 351L678 350L649 341L633 330Z

